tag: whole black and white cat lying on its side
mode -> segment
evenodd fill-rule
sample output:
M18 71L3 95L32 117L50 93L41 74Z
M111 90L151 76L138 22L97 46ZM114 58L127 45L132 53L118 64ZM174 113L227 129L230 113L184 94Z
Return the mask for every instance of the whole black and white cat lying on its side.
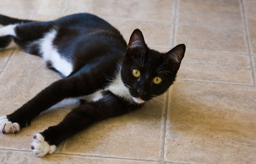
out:
M61 141L92 123L136 110L163 94L173 84L185 53L185 45L166 53L148 48L139 29L127 45L115 27L89 13L49 22L0 15L0 24L0 49L19 47L40 56L63 77L0 117L2 133L17 133L65 98L84 99L60 124L33 136L36 156L54 153Z

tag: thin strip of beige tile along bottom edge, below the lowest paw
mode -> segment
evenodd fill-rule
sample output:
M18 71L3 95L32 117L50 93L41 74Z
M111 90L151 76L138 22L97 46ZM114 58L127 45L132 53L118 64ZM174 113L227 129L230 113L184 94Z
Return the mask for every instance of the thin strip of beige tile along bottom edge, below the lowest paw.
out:
M72 156L67 154L51 154L45 156L44 158L38 158L32 155L32 153L27 152L15 152L8 151L8 163L106 163L106 164L156 164L151 161L136 161L136 160L120 160L114 158L97 158L97 157L83 157L83 156Z

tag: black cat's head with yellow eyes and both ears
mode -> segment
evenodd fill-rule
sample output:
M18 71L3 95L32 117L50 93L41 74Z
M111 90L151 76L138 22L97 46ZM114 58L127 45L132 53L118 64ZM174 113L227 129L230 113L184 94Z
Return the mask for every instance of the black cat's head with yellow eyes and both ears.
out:
M166 53L147 47L143 34L135 29L122 61L122 81L129 88L132 99L143 103L163 94L174 82L185 45L177 45Z

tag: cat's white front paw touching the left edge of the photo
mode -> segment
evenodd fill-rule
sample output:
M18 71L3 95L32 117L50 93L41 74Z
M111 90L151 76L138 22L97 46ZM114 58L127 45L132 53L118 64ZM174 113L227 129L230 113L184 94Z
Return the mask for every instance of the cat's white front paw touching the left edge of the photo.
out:
M17 133L20 131L20 125L18 123L12 123L6 116L0 117L0 131L2 133Z

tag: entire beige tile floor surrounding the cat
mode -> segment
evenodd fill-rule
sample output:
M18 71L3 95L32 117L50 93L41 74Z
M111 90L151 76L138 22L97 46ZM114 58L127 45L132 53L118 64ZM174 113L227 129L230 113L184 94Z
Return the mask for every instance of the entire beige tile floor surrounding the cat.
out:
M70 111L59 105L20 133L0 134L0 163L256 163L255 8L255 0L1 0L4 15L95 13L125 40L139 27L150 47L164 52L185 43L187 52L163 102L94 124L36 158L31 137ZM0 115L60 78L38 57L0 53Z

